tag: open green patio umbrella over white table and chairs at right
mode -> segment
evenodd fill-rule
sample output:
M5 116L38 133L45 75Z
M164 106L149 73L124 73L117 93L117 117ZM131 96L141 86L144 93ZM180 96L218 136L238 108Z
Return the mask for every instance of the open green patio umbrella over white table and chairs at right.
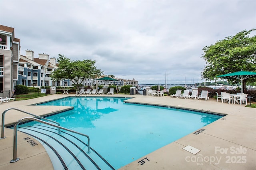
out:
M237 72L234 72L234 73L218 75L217 77L221 77L222 79L234 78L234 79L241 80L241 86L242 86L241 87L241 92L244 93L244 83L243 83L243 81L245 79L256 77L256 72L252 72L252 71L237 71Z

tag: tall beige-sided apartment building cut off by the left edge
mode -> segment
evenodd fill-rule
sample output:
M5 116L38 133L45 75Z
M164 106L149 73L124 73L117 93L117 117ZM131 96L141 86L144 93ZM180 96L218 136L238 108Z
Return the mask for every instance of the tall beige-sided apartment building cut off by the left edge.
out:
M20 39L14 28L0 25L0 96L12 96L18 82Z

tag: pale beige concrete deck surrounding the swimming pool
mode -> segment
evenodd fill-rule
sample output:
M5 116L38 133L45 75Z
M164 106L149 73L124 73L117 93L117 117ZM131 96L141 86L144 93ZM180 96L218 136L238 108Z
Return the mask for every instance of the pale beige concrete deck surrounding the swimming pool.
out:
M46 115L70 107L31 106L35 103L60 99L70 95L48 95L25 101L10 101L0 104L0 113L6 109L17 108L35 115ZM225 117L203 127L198 134L188 134L138 160L120 168L120 170L252 170L256 169L256 109L245 105L234 105L194 99L177 99L170 96L151 97L143 95L87 95L108 97L133 97L128 101L152 105L166 105L226 114ZM2 115L2 114L1 114ZM24 113L11 110L5 114L5 125L14 124ZM0 117L2 119L2 117ZM2 120L0 120L2 121ZM5 139L0 140L0 169L37 169L53 170L50 158L44 147L34 138L18 132L18 162L10 163L13 158L13 130L4 128ZM200 129L198 129L200 130ZM24 138L29 137L38 145L32 146ZM183 148L192 146L200 152L192 154ZM133 158L131 158L132 160Z

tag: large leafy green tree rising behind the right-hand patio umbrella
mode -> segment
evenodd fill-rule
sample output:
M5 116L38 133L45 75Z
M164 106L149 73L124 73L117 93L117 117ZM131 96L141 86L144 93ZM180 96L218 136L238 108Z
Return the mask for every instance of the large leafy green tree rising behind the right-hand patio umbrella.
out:
M250 36L256 29L242 31L235 36L218 40L214 45L203 48L202 57L206 61L202 77L216 80L217 75L236 71L256 71L256 36ZM246 79L244 89L246 89ZM252 79L251 79L252 80ZM254 79L255 80L255 79ZM230 79L231 83L238 83L237 79Z

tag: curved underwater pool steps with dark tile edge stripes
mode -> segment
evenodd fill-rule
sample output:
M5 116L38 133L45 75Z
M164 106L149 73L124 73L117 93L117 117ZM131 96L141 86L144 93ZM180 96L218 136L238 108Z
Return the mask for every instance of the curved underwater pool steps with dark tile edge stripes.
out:
M46 148L54 169L114 169L93 148L90 147L90 154L87 154L87 145L66 131L61 130L58 134L58 129L48 125L20 127L18 130L36 138Z

